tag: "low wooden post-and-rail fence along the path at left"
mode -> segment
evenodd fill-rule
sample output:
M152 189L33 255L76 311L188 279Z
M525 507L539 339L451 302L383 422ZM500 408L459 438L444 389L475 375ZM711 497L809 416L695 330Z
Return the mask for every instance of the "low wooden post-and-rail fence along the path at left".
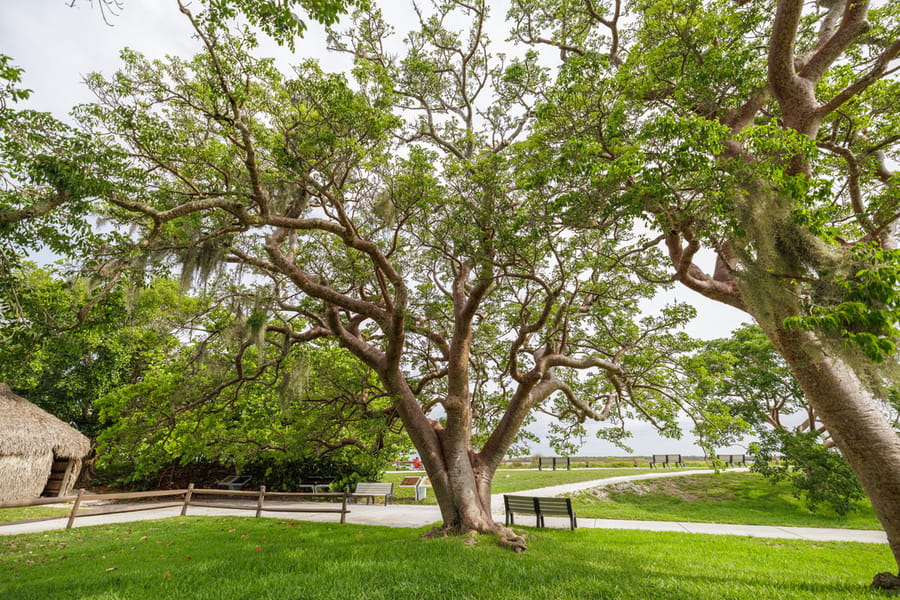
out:
M182 499L177 501L169 501L169 502L153 502L147 504L121 504L114 505L111 507L104 507L103 509L91 509L91 508L83 508L82 503L85 501L93 502L96 500L103 501L111 501L111 500L144 500L147 498L166 498L166 497L176 497L183 496ZM238 504L222 504L221 502L210 502L208 500L204 501L201 498L197 498L197 496L238 496L243 498L255 498L256 505L255 506L242 506ZM331 508L331 507L310 507L310 506L272 506L271 504L266 504L266 499L287 499L287 498L309 498L309 499L326 499L326 498L340 498L341 499L341 507ZM156 490L149 492L119 492L113 494L88 494L85 490L78 490L78 494L74 496L59 496L55 498L33 498L30 500L14 500L10 502L0 502L0 509L3 508L24 508L28 506L42 506L45 504L59 504L59 503L72 503L72 510L69 511L68 522L66 523L66 529L71 529L72 525L75 523L75 519L77 517L90 517L96 515L112 515L118 513L129 513L129 512L138 512L142 510L156 510L159 508L171 508L174 506L181 507L181 515L184 516L187 514L188 507L197 506L203 508L226 508L229 510L252 510L256 512L256 516L259 517L263 512L286 512L286 513L335 513L341 515L341 523L347 522L347 513L350 512L347 510L348 500L350 499L350 493L348 490L343 492L267 492L266 486L262 486L259 488L259 491L243 491L243 490L218 490L218 489L206 489L206 488L195 488L194 484L190 484L187 489L182 490ZM45 517L39 519L27 519L26 521L16 521L16 523L22 522L37 522L37 521L49 521L52 519L62 519L64 516L56 516L56 517ZM3 525L10 525L11 523L0 523L0 527Z

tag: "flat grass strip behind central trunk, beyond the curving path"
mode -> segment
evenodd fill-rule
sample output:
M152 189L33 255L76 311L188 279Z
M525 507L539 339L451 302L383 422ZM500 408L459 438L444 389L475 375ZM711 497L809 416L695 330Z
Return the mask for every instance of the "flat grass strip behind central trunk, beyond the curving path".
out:
M574 471L527 471L527 470L504 470L497 471L491 484L491 493L493 494L511 494L522 490L533 490L551 485L560 485L563 483L574 483L576 481L593 481L594 479L605 479L608 477L619 477L621 475L639 475L641 473L657 472L659 469L650 468L609 468L609 469L576 469ZM404 477L424 477L424 471L409 471L400 473L386 473L382 478L385 483L394 484L394 498L397 502L413 503L415 502L415 492L412 488L398 488L397 484ZM428 490L428 496L421 502L422 504L436 504L434 494Z

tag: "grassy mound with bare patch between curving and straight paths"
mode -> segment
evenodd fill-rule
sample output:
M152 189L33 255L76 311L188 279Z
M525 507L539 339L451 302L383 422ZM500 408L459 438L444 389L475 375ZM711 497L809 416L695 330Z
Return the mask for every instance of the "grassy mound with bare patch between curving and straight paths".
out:
M722 472L614 484L572 495L579 517L881 529L868 499L847 515L810 513L787 483Z

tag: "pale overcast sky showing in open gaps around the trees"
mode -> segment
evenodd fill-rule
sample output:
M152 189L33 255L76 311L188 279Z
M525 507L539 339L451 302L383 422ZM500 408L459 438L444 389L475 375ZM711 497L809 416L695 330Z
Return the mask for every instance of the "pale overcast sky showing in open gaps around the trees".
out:
M85 75L94 71L113 73L119 66L119 51L126 46L151 58L190 56L199 49L174 0L124 0L120 14L108 15L109 25L104 23L96 2L91 7L86 0L80 0L74 8L69 8L68 3L69 0L0 0L0 53L11 56L14 64L25 69L24 86L33 90L30 107L50 111L59 118L66 117L74 105L93 100L83 85ZM394 0L382 4L388 7L386 15L399 32L410 28L412 15L402 9L404 3ZM502 14L495 17L499 23ZM492 38L502 40L506 34L498 30ZM329 70L343 70L349 64L346 56L326 51L324 32L314 23L310 23L307 36L298 42L296 55L272 43L265 43L260 53L277 57L283 67L299 62L297 55L319 58ZM709 264L701 266L711 270L711 261L709 258ZM676 288L653 304L661 306L674 300L697 307L699 316L689 325L688 332L704 339L726 337L740 323L750 320L744 313L685 288ZM689 435L682 440L662 439L643 423L635 425L633 434L630 445L639 455L700 453ZM552 454L546 444L534 450ZM589 438L580 454L621 455L623 452Z

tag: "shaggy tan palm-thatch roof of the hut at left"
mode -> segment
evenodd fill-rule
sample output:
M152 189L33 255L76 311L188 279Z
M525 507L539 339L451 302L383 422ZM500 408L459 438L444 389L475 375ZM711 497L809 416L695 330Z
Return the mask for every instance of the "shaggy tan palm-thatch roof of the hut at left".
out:
M81 459L91 450L91 441L28 400L15 395L0 382L0 456L53 456Z

